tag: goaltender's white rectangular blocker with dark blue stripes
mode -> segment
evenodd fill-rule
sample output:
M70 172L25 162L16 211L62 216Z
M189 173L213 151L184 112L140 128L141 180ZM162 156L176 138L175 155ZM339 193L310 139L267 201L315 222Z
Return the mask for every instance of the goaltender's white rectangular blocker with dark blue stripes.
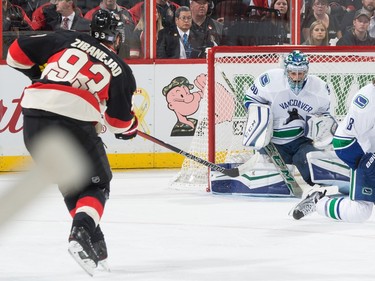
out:
M270 142L272 131L270 107L263 104L250 104L242 144L259 150Z

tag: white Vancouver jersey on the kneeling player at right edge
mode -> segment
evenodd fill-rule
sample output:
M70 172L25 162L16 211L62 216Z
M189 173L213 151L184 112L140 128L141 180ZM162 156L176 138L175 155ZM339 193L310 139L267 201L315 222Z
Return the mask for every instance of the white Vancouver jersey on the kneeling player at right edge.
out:
M375 152L375 86L361 88L353 97L333 138L336 154L355 169L364 153Z

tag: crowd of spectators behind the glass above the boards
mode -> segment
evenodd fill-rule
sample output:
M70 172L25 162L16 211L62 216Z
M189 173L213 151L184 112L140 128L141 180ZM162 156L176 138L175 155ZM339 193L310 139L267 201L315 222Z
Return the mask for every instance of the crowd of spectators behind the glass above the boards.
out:
M290 1L156 0L157 58L203 58L217 45L290 44ZM297 1L302 45L375 44L375 0ZM2 0L2 6L4 52L22 32L88 32L92 14L104 8L124 23L120 56L145 56L143 0Z

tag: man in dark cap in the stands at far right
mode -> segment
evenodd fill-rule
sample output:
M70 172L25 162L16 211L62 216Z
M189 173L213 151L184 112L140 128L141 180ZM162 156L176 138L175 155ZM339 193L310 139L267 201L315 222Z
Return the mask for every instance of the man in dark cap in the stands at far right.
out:
M370 25L371 15L366 10L356 11L351 30L344 33L343 37L337 42L338 46L374 46L375 38L369 35L368 27Z

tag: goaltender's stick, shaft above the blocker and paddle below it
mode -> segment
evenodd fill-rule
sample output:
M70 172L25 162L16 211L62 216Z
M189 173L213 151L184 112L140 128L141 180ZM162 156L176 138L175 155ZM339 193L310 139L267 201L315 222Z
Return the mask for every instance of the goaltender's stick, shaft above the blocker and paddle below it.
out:
M236 90L234 89L232 83L228 79L228 77L225 75L224 71L220 71L221 75L223 76L225 82L227 83L228 87L232 90L233 94L235 95L236 101L237 100L237 95L236 95ZM283 158L281 157L279 151L275 147L275 145L270 142L267 146L264 147L264 150L266 151L267 155L271 158L272 163L275 165L277 171L283 178L286 186L290 190L290 192L298 197L302 197L303 190L294 178L294 176L290 173L287 165L285 164Z

